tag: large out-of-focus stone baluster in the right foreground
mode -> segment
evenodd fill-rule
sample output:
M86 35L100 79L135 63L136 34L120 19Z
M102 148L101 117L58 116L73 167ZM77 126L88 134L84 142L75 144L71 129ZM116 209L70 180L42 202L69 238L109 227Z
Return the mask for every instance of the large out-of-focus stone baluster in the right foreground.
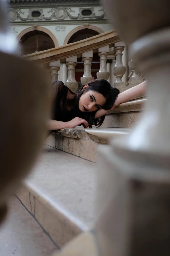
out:
M148 86L136 127L99 149L99 255L170 255L170 2L105 3Z

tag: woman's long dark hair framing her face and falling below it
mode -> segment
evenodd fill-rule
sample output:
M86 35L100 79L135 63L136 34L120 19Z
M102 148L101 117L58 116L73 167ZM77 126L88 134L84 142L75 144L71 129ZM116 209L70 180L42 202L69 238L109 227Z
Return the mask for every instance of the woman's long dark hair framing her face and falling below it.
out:
M74 94L72 98L67 99L68 106L73 106L73 109L78 109L81 95L89 90L92 90L101 93L106 98L106 103L102 106L102 109L109 110L113 107L114 102L119 94L119 89L113 88L111 84L105 79L95 79L87 84L89 85L89 88L83 90L84 86L86 85L85 84L81 87L78 93ZM92 125L99 127L104 122L105 115L101 116L100 118L94 119L97 111L98 110L85 113L81 112L81 116L79 117L84 118L89 123L89 127L92 127Z

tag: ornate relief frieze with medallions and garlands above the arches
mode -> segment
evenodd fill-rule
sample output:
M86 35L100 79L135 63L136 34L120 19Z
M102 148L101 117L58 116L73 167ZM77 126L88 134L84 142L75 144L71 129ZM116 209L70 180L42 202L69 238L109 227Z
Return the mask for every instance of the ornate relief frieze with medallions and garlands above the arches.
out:
M23 11L25 10L25 11ZM97 12L97 13L96 13ZM7 19L14 21L50 21L50 20L88 20L88 19L106 19L104 8L95 9L94 7L66 8L58 7L51 9L8 9ZM50 16L49 16L50 14Z

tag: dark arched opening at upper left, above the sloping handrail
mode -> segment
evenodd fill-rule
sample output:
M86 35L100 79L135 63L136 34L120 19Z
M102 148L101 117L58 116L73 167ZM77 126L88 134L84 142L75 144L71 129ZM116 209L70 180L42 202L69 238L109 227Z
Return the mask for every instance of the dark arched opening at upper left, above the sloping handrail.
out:
M32 30L24 34L20 41L21 55L48 50L55 47L51 37L39 30Z

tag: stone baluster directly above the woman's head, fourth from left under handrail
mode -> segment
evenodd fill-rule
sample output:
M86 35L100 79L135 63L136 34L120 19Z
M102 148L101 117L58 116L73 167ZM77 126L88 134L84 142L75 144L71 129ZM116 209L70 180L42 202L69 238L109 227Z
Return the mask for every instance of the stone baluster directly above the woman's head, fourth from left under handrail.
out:
M109 53L109 46L104 46L99 48L99 56L100 56L100 70L97 72L98 79L106 79L108 80L110 77L110 73L107 71L107 55Z

